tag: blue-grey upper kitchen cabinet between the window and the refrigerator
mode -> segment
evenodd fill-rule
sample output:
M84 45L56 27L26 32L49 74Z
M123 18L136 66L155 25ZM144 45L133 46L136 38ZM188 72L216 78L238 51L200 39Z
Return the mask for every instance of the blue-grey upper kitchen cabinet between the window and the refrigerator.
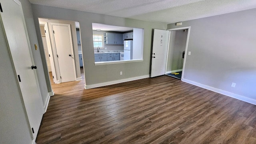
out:
M106 44L122 44L122 34L106 33Z

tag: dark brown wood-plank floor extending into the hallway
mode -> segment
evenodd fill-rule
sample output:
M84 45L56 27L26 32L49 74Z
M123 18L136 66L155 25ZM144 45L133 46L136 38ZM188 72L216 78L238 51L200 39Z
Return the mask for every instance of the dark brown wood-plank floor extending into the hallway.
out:
M170 76L52 88L37 144L256 144L255 105Z

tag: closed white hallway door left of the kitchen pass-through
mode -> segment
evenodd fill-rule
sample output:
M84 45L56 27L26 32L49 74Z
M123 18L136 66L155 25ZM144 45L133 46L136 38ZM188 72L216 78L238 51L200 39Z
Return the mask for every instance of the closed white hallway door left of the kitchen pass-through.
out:
M60 82L76 80L70 24L51 23L57 53Z

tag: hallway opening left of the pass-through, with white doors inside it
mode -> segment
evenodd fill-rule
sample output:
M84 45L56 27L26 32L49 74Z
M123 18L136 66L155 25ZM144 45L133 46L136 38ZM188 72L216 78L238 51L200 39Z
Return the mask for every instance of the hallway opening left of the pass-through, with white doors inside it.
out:
M50 79L54 84L82 80L80 71L81 64L83 67L83 62L80 62L82 46L80 40L78 46L76 28L77 23L79 28L79 22L46 18L38 18L38 20Z

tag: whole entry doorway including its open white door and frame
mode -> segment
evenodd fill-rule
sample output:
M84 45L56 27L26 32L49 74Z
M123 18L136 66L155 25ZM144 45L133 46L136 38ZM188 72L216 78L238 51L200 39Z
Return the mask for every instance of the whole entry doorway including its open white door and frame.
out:
M189 33L190 26L168 30L154 29L150 77L166 74L183 79Z

